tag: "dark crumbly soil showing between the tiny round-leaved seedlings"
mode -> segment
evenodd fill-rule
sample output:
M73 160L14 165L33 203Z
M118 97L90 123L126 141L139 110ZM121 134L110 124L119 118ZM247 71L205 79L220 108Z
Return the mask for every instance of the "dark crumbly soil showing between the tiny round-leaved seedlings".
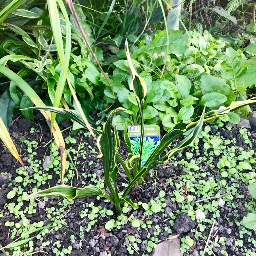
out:
M61 130L69 127L71 123L65 121L60 125ZM30 134L31 127L35 128L35 132L33 134ZM251 139L256 138L256 130L251 130ZM75 136L72 133L69 133L69 130L66 130L63 132L63 136L67 137L69 135L72 136L72 138L76 139L76 144L72 144L72 147L77 148L77 146L80 143L81 140L81 133L77 133ZM216 133L216 129L212 127L212 133ZM22 158L24 160L25 165L28 163L26 162L26 159L28 157L28 153L26 152L26 146L18 141L18 138L20 136L25 136L27 140L29 141L37 141L38 147L35 149L35 152L37 152L37 155L34 157L34 159L43 160L46 155L49 155L49 149L48 146L44 147L46 143L51 140L51 134L49 132L48 126L45 124L44 119L42 118L42 115L39 113L35 116L34 123L24 119L22 117L16 118L13 120L11 127L10 127L10 134L12 139L15 142L15 145L17 147L18 152L20 152L20 155L22 155ZM82 133L83 134L83 133ZM243 147L245 150L248 150L248 145L244 143L244 141L240 138L239 132L236 128L232 129L231 131L223 131L221 130L221 136L225 137L225 139L232 139L237 138L237 145L240 147ZM88 146L91 146L95 148L97 151L97 147L95 145L95 140L93 137L83 137L83 142L87 142ZM87 146L87 147L88 147ZM67 148L69 145L67 145ZM48 152L47 152L48 149ZM254 152L256 151L255 143L253 143L252 149ZM17 203L17 197L14 197L13 199L9 200L7 199L6 195L10 190L13 189L13 184L15 184L14 179L18 174L16 173L16 168L18 168L20 165L16 162L16 160L11 156L11 154L8 151L5 151L3 146L0 144L0 170L1 173L7 173L7 175L0 175L0 213L2 212L3 217L0 218L0 244L2 246L5 246L13 241L13 239L10 238L10 228L5 226L5 223L7 221L14 223L19 222L19 219L15 219L14 215L11 214L8 209L6 208L6 204L9 204L11 202ZM124 150L122 143L120 147L120 152ZM97 151L98 152L98 151ZM182 152L183 156L186 156L186 151ZM124 152L125 153L125 152ZM177 157L177 160L180 160L181 157ZM79 179L76 180L76 176L73 178L73 186L77 187L83 187L82 180L86 182L86 184L91 183L90 178L87 177L86 179L83 178L81 175L84 170L87 171L87 173L97 173L97 179L103 177L103 169L101 166L101 159L97 158L95 154L92 153L90 148L87 148L87 154L86 159L84 160L81 155L79 155L79 158L77 161L80 161L81 164L77 165L77 171L79 174ZM93 165L89 166L89 162L93 161ZM215 161L218 161L216 159ZM203 164L203 163L202 163ZM216 166L216 165L215 165ZM209 166L204 166L206 172L210 172L213 177L217 177L217 173L210 170ZM40 166L40 169L42 169L42 165ZM55 173L53 169L48 171L53 175L52 180L48 180L50 186L54 186L57 184L59 180L59 175ZM125 215L129 217L131 214L133 214L134 217L137 219L143 219L144 222L147 220L152 220L153 225L150 229L142 229L142 228L134 228L130 222L122 226L120 229L113 229L111 232L108 232L102 228L104 227L105 223L111 218L116 219L117 214L114 213L113 216L110 217L104 217L104 218L98 218L98 221L95 223L95 225L91 228L89 232L86 232L85 229L88 226L88 223L90 220L88 217L85 217L82 219L80 217L79 212L82 210L85 210L83 207L83 204L85 203L91 203L94 202L94 205L97 207L98 205L101 205L102 209L112 209L114 212L114 207L112 203L109 203L108 201L104 200L103 198L100 198L99 200L96 199L96 197L87 197L87 198L80 198L75 199L74 204L67 206L65 212L62 213L65 215L63 219L65 219L62 227L59 230L51 231L48 233L45 238L43 239L43 242L45 241L51 241L51 244L44 247L42 246L42 241L38 241L37 239L33 239L33 246L34 246L34 252L37 252L39 250L43 250L44 252L38 252L33 255L35 256L43 256L43 255L55 255L53 253L53 249L56 247L53 245L54 242L60 241L61 248L68 246L72 246L73 249L70 253L72 256L107 256L108 253L111 253L111 255L114 256L126 256L129 255L127 251L126 244L130 243L128 239L125 237L126 234L132 234L136 238L140 238L142 241L147 240L147 234L148 232L151 233L151 237L154 236L153 232L156 231L155 225L160 226L160 233L156 237L158 237L159 240L166 239L168 237L171 237L175 234L181 234L179 238L190 236L194 239L194 234L190 232L190 229L193 229L196 227L196 222L192 221L192 219L185 213L178 214L176 212L177 209L179 209L179 203L173 202L168 195L169 192L173 192L176 188L174 186L169 185L169 180L172 179L174 182L179 183L180 178L179 175L183 172L183 168L181 166L173 167L172 165L162 166L157 170L157 175L150 177L148 174L145 182L146 184L143 184L140 186L140 190L133 189L130 193L130 198L134 202L146 202L148 203L151 199L155 199L160 190L166 189L166 196L165 196L165 203L167 204L165 208L165 213L169 214L170 212L175 212L176 219L174 221L174 226L170 227L169 221L166 221L166 217L162 216L162 213L153 213L153 215L150 216L143 216L144 210L140 207L138 210L134 211L133 209L130 209L128 213ZM122 175L118 176L118 184L120 189L124 188L121 186L124 180L124 173ZM206 176L205 180L208 180L210 176ZM10 180L9 180L10 177ZM232 186L233 181L226 180L229 186ZM69 185L70 181L66 184ZM153 185L152 185L153 184ZM154 185L155 184L155 185ZM33 185L31 185L33 187ZM40 186L41 189L48 188L48 183L46 182L45 185ZM31 188L29 186L26 186L24 188L24 191L30 191ZM237 239L243 240L243 245L247 248L250 248L252 252L255 252L255 247L252 246L251 243L248 242L248 235L244 235L243 238L239 237L239 231L242 230L243 226L238 227L235 224L235 221L241 221L242 218L247 214L247 209L244 207L244 204L246 201L248 201L247 194L245 191L247 191L247 185L240 182L239 188L238 188L240 195L245 195L245 198L235 198L234 204L237 205L236 209L233 209L229 207L227 204L224 205L224 207L219 207L220 210L220 217L216 218L215 227L213 229L213 232L217 233L219 237L226 237L227 242L225 246L221 247L214 247L213 252L215 255L222 255L221 250L225 250L228 255L245 255L244 249L242 247L234 245L234 241ZM220 191L221 193L221 191ZM224 191L225 193L225 191ZM199 200L201 198L197 198ZM41 200L43 201L43 200ZM62 201L62 199L60 199ZM39 222L44 221L44 224L47 225L51 222L51 219L49 219L46 215L45 209L47 207L51 208L53 207L53 202L56 202L56 198L49 198L47 201L45 200L45 207L39 208L38 201L37 205L34 207L36 209L36 212L34 214L26 214L26 218L29 219L30 223L33 222ZM202 202L204 203L204 202ZM25 202L25 205L27 205L27 202ZM55 204L56 207L57 204ZM58 206L58 208L60 208ZM238 214L239 217L234 217L234 214ZM53 215L52 215L53 216ZM206 218L211 219L211 213L209 213ZM79 233L81 232L80 226L84 227L84 238L79 238ZM168 233L165 231L165 227L168 226L171 228L172 233ZM211 225L206 225L205 230L202 232L202 235L205 237L209 236L211 229ZM12 230L12 228L11 228ZM102 231L103 230L103 231ZM76 234L74 234L73 232ZM75 241L70 241L70 236L74 234L75 235ZM34 235L34 234L33 234ZM255 234L254 234L255 237ZM16 238L15 238L16 239ZM256 239L256 237L255 237ZM139 255L147 254L145 251L146 246L142 242L141 244L138 244L139 246ZM205 242L202 239L198 239L196 241L196 246L191 247L191 249L188 251L187 254L184 255L193 255L197 256L199 255L199 252L203 250L205 247ZM23 249L24 251L27 250L27 247ZM9 251L6 250L6 251ZM61 251L61 250L60 250ZM1 253L0 253L1 255ZM137 253L134 253L134 255L138 255ZM2 255L1 255L2 256Z

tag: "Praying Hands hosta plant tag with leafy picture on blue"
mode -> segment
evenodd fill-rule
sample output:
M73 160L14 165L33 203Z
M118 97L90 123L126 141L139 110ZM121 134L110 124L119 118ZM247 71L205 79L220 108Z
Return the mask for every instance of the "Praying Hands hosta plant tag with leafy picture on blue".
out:
M131 140L131 150L134 155L139 155L141 126L128 126L128 136ZM160 142L160 128L158 125L144 125L143 150L141 164L144 165Z

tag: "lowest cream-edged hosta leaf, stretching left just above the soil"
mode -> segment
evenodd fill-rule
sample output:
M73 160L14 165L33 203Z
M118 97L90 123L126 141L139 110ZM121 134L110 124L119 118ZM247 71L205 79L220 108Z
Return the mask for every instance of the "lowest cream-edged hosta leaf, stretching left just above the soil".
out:
M75 198L81 198L86 196L106 197L106 194L96 186L77 188L77 187L72 187L67 185L59 185L59 186L51 187L42 191L35 192L31 195L28 195L27 198L25 198L25 200L35 198L35 197L45 197L45 196L62 197L71 201ZM107 195L107 197L109 196Z

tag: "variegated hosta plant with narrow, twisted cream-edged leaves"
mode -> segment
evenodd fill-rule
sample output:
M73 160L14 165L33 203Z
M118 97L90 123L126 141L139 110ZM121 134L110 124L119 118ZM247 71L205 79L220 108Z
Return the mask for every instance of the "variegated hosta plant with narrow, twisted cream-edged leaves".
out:
M126 44L127 45L127 44ZM144 79L138 75L136 70L132 65L132 61L129 55L128 46L126 47L127 59L129 62L129 66L132 73L132 81L130 83L130 89L133 91L136 101L138 104L138 109L140 112L140 118L143 120L143 105L144 99L146 95L146 84ZM102 157L103 162L103 170L104 170L104 180L106 185L109 188L110 194L104 193L97 186L87 186L84 188L76 188L67 185L60 185L56 187L52 187L49 189L45 189L36 193L29 195L26 199L35 198L35 197L45 197L45 196L58 196L67 198L68 200L73 200L75 198L81 198L85 196L97 195L102 196L109 199L116 208L118 213L121 213L122 204L124 202L136 207L134 203L130 200L128 196L129 191L133 186L135 186L136 182L139 184L142 183L143 178L146 176L148 171L154 167L156 167L159 163L168 162L170 157L172 157L175 153L181 151L185 147L189 146L193 141L197 138L200 129L204 122L207 122L211 119L217 117L225 117L227 113L232 110L236 110L241 108L242 106L248 105L250 103L255 103L256 98L252 98L246 101L237 101L232 102L228 107L221 107L218 110L212 110L208 113L204 113L205 108L201 116L195 118L191 123L177 123L174 129L171 132L168 132L165 136L163 136L162 140L159 142L155 150L151 153L150 157L141 165L142 155L143 155L143 143L144 140L140 140L140 147L138 149L137 154L133 154L131 150L131 141L127 133L127 125L125 125L124 129L124 141L127 147L128 156L127 159L124 160L122 156L119 154L119 135L115 122L113 122L113 117L117 112L126 111L124 108L117 108L113 110L110 114L106 123L103 124L102 131L94 130L94 133L98 135L97 145L100 150L99 157ZM31 109L31 108L30 108ZM86 127L86 124L83 122L81 116L74 110L65 110L54 107L36 107L36 109L40 110L48 110L58 114L63 114L70 119L78 122L79 124ZM112 132L112 123L114 126L114 131ZM144 125L141 122L141 137L144 136ZM176 138L181 136L185 131L188 131L187 136L180 141L179 144L174 146L170 151L161 156L161 154L166 150L167 146L169 146ZM160 157L160 158L159 158ZM118 162L124 168L129 183L124 191L120 188L118 189L117 185L117 174L119 172ZM132 170L132 172L131 172ZM122 192L119 192L122 191Z

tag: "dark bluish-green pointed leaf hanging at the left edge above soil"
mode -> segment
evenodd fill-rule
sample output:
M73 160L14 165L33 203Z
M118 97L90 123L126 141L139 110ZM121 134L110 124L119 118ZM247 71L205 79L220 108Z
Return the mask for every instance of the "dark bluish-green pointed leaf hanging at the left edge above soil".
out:
M0 117L8 130L12 120L14 107L15 103L11 99L9 90L6 90L0 98Z

